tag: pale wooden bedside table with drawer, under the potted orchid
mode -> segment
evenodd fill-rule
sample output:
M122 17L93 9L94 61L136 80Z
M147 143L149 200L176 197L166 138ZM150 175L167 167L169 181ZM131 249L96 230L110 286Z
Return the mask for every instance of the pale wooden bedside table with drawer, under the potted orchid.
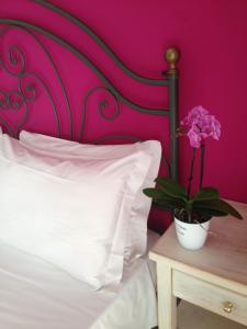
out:
M213 218L201 250L180 247L173 224L151 249L159 329L177 328L176 297L247 326L247 205L231 203L244 220Z

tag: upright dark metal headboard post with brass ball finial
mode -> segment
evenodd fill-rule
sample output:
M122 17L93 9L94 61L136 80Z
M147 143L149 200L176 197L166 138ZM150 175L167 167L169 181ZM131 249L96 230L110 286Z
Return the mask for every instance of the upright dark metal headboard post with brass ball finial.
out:
M170 177L178 180L178 70L177 63L180 58L178 48L170 47L165 54L168 70L165 72L169 81L169 125L170 125Z

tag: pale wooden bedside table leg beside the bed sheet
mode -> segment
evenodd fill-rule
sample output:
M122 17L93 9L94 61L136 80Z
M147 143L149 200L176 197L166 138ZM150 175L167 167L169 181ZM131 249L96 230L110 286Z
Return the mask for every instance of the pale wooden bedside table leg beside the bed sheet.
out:
M177 303L172 294L172 270L168 264L157 263L157 284L159 329L176 329Z

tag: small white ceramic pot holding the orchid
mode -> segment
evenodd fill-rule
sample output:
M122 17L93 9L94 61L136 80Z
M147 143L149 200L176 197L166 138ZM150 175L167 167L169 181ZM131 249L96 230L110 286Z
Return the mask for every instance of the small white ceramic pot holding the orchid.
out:
M175 217L175 226L180 245L189 250L198 250L205 243L210 220L202 224L189 224Z

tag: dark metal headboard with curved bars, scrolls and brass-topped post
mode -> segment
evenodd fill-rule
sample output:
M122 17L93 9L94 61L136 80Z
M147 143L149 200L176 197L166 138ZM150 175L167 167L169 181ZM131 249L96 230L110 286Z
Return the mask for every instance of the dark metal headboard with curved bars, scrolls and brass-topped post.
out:
M69 41L61 38L59 35L54 34L50 31L47 31L41 26L37 26L33 23L29 23L23 20L15 20L15 19L0 19L0 23L3 24L3 27L0 30L0 36L2 36L4 33L7 33L11 29L18 29L19 31L23 31L26 33L30 37L32 37L35 43L38 44L38 46L43 49L46 57L48 58L49 63L52 64L52 67L54 69L54 72L57 77L58 83L60 84L60 89L64 95L64 100L66 103L66 111L67 111L67 117L69 122L69 138L72 138L72 129L74 129L74 122L72 122L72 115L71 115L71 109L70 109L70 101L69 97L67 94L65 84L63 82L63 79L59 75L59 70L56 67L55 61L53 60L52 55L45 47L44 43L38 38L38 35L45 35L48 38L55 41L59 45L67 48L69 52L71 52L75 56L77 56L80 60L82 60L97 76L98 78L103 82L104 87L96 87L87 92L85 95L83 101L83 109L82 109L82 116L81 116L81 127L80 127L80 134L79 134L79 141L82 140L82 134L85 129L85 122L86 122L86 113L87 113L87 103L88 99L93 94L94 92L99 90L106 91L110 93L113 98L113 101L115 102L115 112L112 116L105 116L104 115L104 109L108 107L108 102L102 101L99 104L99 112L101 115L109 121L113 121L119 115L119 109L120 104L119 102L122 102L126 104L130 109L133 109L134 111L141 112L143 114L147 115L155 115L155 116L168 116L169 117L169 135L170 135L170 164L167 162L168 172L170 175L175 179L178 179L178 141L176 138L177 133L177 125L178 125L178 71L176 68L177 61L179 60L179 50L175 47L168 48L166 52L166 61L168 64L168 70L162 72L164 79L150 79L143 77L141 75L137 75L130 68L127 68L123 61L121 61L117 56L113 53L113 50L91 30L89 26L87 26L83 22L81 22L78 18L74 16L72 14L64 11L61 8L58 8L47 1L44 0L34 0L34 2L38 3L42 7L45 7L49 11L54 11L58 13L59 15L64 16L68 21L70 21L72 24L75 24L77 27L79 27L82 32L87 33L104 52L105 54L116 64L116 66L128 77L132 79L139 81L142 83L148 84L148 86L160 86L168 88L168 109L150 109L146 106L141 106L137 103L133 102L128 98L126 98L120 90L116 89L116 87L106 78L106 76L87 57L85 53L82 53L78 47L75 47L69 43ZM0 117L0 123L5 126L5 128L9 131L11 135L14 137L18 137L19 132L24 127L27 118L29 118L29 103L34 102L37 98L35 87L33 84L29 84L25 81L25 78L27 76L32 76L35 78L38 83L41 83L47 93L47 97L49 98L54 117L56 120L57 124L57 137L60 137L60 120L56 110L55 101L53 99L52 93L49 92L48 87L44 83L44 81L35 73L30 73L25 71L25 54L20 49L18 46L13 45L9 48L8 52L8 60L9 64L12 67L18 67L15 71L13 72L8 68L8 65L4 64L4 60L0 57L0 68L8 72L9 75L14 76L18 79L18 90L12 90L9 93L5 91L2 91L0 89L0 110L5 111L8 109L18 110L21 106L24 106L24 115L19 123L16 127L16 132L14 132L11 128L11 125L4 121L2 117ZM1 88L1 87L0 87ZM123 136L123 135L114 135L114 136L104 136L102 138L99 138L96 140L96 143L100 143L104 139L111 139L111 138L127 138L132 140L141 140L138 137L134 136Z

